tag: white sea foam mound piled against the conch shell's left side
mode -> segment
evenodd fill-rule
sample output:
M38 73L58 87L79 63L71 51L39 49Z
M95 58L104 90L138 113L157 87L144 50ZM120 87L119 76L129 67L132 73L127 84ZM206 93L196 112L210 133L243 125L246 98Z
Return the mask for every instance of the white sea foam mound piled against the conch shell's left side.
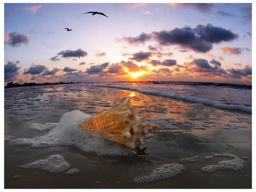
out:
M98 155L133 155L134 152L113 141L91 136L79 128L82 119L90 115L79 110L69 111L61 116L59 123L33 123L33 130L49 130L46 135L32 138L11 139L11 145L28 145L32 148L51 147L56 145L74 145L84 152L93 152ZM30 127L31 128L31 127Z

